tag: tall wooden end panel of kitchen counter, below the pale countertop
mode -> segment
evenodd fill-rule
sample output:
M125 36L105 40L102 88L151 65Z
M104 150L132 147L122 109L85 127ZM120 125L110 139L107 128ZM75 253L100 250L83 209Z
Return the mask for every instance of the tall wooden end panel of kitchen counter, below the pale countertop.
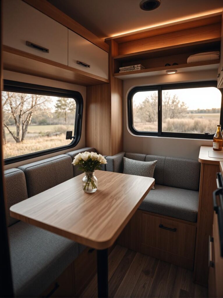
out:
M218 164L201 163L194 281L204 286L207 286L208 281L208 238L212 233L213 191L217 188L216 173L219 171Z

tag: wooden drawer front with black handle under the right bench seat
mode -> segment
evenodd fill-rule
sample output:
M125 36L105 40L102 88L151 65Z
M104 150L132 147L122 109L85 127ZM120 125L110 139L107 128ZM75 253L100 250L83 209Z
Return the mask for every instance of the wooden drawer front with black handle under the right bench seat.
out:
M142 243L145 245L193 260L195 238L196 226L143 213Z

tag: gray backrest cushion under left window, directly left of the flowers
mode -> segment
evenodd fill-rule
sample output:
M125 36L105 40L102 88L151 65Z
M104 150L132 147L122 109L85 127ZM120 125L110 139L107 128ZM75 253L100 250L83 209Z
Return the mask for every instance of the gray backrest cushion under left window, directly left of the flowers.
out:
M66 154L32 162L19 169L25 173L29 197L74 177L72 158Z

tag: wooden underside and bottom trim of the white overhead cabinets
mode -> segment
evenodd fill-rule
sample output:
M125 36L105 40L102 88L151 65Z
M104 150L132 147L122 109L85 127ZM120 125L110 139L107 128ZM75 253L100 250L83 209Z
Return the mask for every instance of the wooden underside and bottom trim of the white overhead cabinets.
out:
M3 46L5 70L82 86L109 83L109 80L67 65Z

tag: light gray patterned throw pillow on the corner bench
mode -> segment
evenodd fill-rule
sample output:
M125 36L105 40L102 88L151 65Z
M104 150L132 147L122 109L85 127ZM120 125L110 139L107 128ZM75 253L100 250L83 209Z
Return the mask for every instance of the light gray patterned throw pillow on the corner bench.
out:
M124 170L123 170L124 174L153 178L157 160L154 160L153 162L142 162L140 160L123 157L123 161L124 161Z

